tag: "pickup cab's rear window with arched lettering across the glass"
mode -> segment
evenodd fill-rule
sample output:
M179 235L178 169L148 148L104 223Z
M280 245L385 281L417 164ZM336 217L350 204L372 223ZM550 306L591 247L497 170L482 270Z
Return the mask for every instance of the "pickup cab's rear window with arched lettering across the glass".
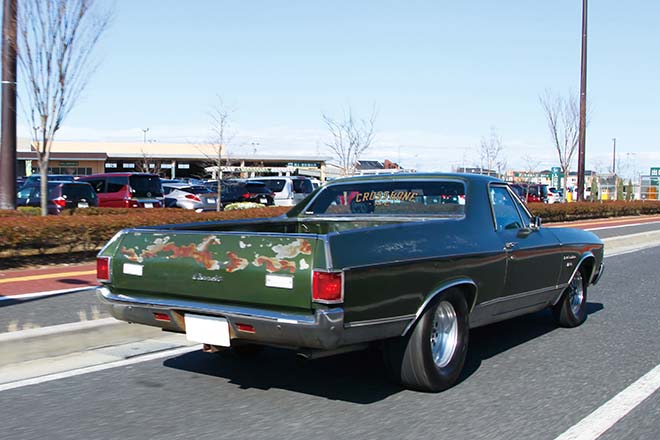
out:
M307 215L463 215L465 185L457 181L355 182L325 187Z

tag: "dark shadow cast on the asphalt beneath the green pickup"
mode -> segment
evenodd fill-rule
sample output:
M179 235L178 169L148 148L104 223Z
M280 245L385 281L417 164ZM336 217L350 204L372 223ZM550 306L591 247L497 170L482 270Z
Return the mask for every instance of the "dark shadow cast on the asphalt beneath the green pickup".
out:
M599 303L587 307L589 314L603 309ZM474 374L482 360L554 330L557 326L549 311L472 330L460 381ZM239 358L231 352L195 351L168 359L164 365L223 378L242 389L284 389L357 404L378 402L403 391L387 380L376 348L313 361L300 360L292 351L276 348L266 348L253 358Z

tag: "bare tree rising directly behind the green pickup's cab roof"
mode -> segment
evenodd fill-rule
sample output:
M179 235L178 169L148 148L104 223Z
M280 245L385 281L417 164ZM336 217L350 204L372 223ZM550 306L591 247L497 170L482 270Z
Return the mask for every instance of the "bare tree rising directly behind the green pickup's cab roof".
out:
M341 120L322 114L323 122L330 132L330 141L326 146L339 161L342 175L355 173L358 160L369 149L374 140L374 124L377 111L374 106L368 119L356 119L349 107Z

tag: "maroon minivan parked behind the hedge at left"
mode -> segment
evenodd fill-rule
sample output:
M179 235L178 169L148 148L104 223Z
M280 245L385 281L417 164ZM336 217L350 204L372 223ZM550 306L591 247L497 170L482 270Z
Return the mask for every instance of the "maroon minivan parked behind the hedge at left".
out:
M99 206L107 208L162 208L160 178L147 173L104 173L82 176L94 188Z

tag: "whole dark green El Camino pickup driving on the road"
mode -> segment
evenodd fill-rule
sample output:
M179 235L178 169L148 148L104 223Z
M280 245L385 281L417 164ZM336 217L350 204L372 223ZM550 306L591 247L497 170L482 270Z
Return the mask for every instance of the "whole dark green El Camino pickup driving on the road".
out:
M333 181L281 217L123 230L97 272L116 318L205 350L314 358L376 343L398 382L441 391L470 328L546 307L582 324L603 243L541 227L497 179L395 174Z

